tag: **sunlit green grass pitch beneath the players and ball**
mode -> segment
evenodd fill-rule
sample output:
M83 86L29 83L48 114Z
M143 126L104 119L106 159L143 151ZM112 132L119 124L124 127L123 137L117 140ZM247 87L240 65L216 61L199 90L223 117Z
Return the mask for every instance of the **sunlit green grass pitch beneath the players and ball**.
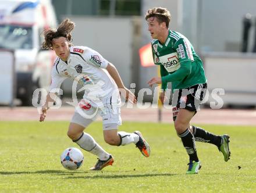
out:
M126 122L119 129L140 130L151 145L150 158L133 144L105 144L101 123L93 123L86 132L112 153L113 166L89 171L97 159L83 151L84 165L66 170L59 160L62 151L79 148L66 136L68 124L0 122L0 192L256 192L256 127L201 125L229 134L232 156L224 162L214 145L197 142L202 169L187 176L188 156L173 126L157 123Z

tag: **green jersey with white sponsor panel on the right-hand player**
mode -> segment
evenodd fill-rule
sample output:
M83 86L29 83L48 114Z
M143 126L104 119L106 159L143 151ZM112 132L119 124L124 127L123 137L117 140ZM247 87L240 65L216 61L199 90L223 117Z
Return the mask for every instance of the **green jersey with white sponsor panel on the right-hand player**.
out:
M184 35L169 30L164 44L151 42L155 65L160 65L162 88L172 82L172 91L207 82L202 60Z

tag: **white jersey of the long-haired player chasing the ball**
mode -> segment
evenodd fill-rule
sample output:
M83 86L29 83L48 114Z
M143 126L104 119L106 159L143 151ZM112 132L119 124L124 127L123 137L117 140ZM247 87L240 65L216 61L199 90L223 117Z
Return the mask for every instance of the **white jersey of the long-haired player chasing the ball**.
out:
M71 78L73 86L77 83L83 86L80 90L84 90L84 99L95 103L104 101L103 99L113 93L119 93L118 86L106 71L106 66L108 61L93 49L70 47L70 56L66 62L59 57L55 60L50 92L54 88L60 88L66 78Z

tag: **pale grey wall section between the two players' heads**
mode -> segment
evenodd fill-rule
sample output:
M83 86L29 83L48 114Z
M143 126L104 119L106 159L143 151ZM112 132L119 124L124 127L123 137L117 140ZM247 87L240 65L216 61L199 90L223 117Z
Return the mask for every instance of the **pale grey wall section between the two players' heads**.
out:
M76 27L73 44L95 49L118 69L126 87L131 82L131 17L70 16Z

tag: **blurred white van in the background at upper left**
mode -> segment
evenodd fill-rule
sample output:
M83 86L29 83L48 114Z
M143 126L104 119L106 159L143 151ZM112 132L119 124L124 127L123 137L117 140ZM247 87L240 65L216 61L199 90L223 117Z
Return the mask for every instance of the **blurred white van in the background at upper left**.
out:
M0 52L14 52L16 98L22 105L31 105L35 88L51 84L55 54L41 49L41 33L56 24L50 0L0 0Z

